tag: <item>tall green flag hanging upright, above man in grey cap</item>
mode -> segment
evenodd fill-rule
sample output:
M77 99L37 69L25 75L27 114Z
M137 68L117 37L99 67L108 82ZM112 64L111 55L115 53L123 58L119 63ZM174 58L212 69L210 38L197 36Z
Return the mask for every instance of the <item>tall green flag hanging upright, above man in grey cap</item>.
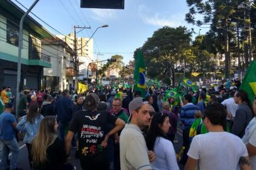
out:
M142 97L146 95L146 84L145 84L145 71L146 65L144 62L143 54L141 50L137 51L134 69L134 91L141 91Z

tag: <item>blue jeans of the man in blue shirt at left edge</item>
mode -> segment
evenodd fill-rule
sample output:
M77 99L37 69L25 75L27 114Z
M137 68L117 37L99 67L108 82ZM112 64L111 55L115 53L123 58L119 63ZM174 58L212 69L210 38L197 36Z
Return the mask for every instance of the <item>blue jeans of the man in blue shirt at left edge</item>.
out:
M0 139L0 145L3 146L3 150L1 154L2 161L0 162L0 169L5 170L8 168L7 160L8 160L10 151L11 151L10 169L15 169L18 156L20 153L20 148L17 140L16 139L11 139L11 140Z

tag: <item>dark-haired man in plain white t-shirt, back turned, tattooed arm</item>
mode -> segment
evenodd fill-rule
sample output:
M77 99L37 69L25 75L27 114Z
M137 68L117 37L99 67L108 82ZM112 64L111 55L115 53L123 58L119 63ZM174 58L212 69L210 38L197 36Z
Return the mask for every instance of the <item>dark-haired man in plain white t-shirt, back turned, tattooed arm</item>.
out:
M207 106L203 119L209 133L196 135L192 140L185 170L194 170L197 164L202 170L234 170L238 164L242 170L252 169L243 141L224 132L226 115L219 103Z

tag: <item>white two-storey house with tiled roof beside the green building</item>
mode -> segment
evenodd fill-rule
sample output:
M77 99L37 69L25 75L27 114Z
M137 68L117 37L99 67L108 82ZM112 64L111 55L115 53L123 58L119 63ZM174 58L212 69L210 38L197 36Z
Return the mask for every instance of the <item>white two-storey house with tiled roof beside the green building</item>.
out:
M44 68L44 88L54 91L75 86L74 50L60 38L42 40L42 51L51 57L51 68Z

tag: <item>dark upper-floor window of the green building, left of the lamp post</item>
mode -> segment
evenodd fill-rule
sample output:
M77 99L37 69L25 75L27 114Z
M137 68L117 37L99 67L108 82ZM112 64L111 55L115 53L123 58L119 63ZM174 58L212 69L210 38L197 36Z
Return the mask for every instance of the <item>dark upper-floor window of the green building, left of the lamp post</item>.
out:
M8 20L6 22L6 42L17 47L19 44L19 28Z

